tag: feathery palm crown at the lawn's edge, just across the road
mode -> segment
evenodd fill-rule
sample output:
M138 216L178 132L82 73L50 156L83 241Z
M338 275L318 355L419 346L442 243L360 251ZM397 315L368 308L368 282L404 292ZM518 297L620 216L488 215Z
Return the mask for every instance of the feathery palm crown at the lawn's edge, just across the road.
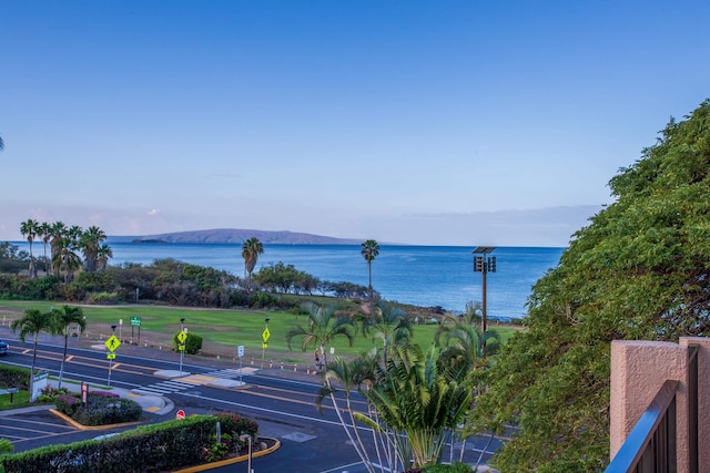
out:
M304 302L301 308L308 312L308 326L296 326L286 332L286 345L291 349L294 338L301 338L301 349L314 345L321 348L321 360L327 364L325 346L335 337L346 337L349 346L353 346L353 321L347 317L336 317L335 307L320 306L315 302Z

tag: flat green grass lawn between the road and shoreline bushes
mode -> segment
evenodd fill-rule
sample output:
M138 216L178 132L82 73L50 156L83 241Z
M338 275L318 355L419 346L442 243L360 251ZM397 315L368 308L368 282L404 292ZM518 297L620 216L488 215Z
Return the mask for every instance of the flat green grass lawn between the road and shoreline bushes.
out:
M40 311L49 311L51 307L60 309L63 302L47 301L14 301L0 300L0 313L4 317L18 318L26 309L39 309ZM186 309L175 307L155 307L155 306L80 306L87 318L89 333L91 337L111 335L111 326L119 325L115 333L121 331L121 338L128 339L131 336L131 317L141 318L141 340L150 339L151 333L162 336L163 340L169 340L181 328L180 319L185 319L185 328L189 333L195 333L205 341L216 343L224 347L232 347L234 351L236 347L242 345L245 351L252 356L262 352L262 332L266 327L265 319L268 320L268 330L271 338L268 339L268 352L271 356L281 358L287 356L288 347L285 342L285 333L290 328L296 325L307 323L306 316L295 316L284 311L260 311L260 310L223 310L223 309ZM12 316L7 316L13 312ZM4 325L7 325L6 321ZM423 347L428 346L434 340L436 325L417 325L414 329L414 341ZM516 329L509 327L495 327L489 325L489 329L498 331L501 342L505 342ZM133 328L134 338L138 337L138 328ZM347 339L341 337L336 339L332 347L336 354L349 356L359 351L366 351L374 346L372 340L363 337L361 333L354 340L353 347L348 347ZM294 352L301 352L300 341L294 339L292 346ZM329 348L329 347L328 347ZM308 351L313 351L311 348ZM295 354L295 353L294 353ZM297 357L298 358L298 357ZM284 359L291 362L288 358Z

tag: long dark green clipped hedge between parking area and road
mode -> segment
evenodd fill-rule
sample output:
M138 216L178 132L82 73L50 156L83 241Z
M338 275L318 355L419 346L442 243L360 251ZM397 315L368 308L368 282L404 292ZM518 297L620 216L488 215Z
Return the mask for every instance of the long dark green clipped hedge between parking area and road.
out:
M206 461L216 423L232 439L257 438L258 424L237 414L194 415L142 425L104 440L50 445L0 456L0 471L13 473L156 473ZM240 449L244 442L235 442ZM2 470L4 469L4 470Z

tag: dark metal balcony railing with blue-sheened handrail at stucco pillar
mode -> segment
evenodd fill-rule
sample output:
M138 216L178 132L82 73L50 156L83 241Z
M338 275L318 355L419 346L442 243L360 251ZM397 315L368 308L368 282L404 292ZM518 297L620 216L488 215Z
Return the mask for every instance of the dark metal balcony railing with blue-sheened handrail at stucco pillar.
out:
M689 471L698 472L698 347L688 347ZM605 473L674 473L677 471L676 393L679 381L667 380L605 470Z

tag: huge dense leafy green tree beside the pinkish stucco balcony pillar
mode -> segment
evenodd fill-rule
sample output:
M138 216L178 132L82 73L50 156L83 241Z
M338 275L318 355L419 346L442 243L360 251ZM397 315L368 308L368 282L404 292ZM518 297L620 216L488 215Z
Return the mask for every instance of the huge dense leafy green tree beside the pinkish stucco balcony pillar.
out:
M609 459L610 343L710 335L710 101L671 120L610 181L616 202L532 288L501 349L476 431L517 432L500 471L599 471Z

